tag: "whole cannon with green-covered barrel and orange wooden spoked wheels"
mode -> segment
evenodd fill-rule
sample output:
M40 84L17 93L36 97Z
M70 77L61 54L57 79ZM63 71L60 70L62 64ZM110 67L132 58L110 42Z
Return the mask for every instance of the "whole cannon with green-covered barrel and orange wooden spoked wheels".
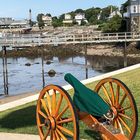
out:
M134 139L137 107L123 82L106 78L91 90L70 73L64 78L74 89L73 100L57 85L48 85L40 92L36 120L41 140L79 140L79 121L99 132L103 140Z

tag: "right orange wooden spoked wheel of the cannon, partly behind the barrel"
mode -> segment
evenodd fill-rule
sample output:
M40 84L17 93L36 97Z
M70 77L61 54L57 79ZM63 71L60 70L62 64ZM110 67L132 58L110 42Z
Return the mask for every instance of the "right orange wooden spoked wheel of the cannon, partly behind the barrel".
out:
M138 127L138 113L128 87L120 80L106 78L96 85L95 91L111 107L114 113L113 126L132 140Z

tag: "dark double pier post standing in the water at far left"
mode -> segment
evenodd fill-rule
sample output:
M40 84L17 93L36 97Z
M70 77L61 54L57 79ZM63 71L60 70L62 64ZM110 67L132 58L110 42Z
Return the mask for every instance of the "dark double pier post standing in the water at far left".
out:
M7 46L2 46L2 52L3 52L3 83L4 83L4 94L8 95L8 70L7 70Z

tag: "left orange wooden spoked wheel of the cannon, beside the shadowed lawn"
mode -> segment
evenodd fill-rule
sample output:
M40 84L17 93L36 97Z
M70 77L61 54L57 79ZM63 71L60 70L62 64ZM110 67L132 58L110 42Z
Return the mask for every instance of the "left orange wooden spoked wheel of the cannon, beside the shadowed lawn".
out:
M46 86L40 93L36 109L41 140L79 139L78 116L69 94L59 86Z

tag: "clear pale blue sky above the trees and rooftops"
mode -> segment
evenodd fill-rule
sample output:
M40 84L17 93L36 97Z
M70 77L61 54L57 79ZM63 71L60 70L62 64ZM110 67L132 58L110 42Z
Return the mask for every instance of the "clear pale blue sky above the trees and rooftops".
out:
M32 18L36 20L38 13L50 13L59 16L76 9L91 7L106 7L108 5L121 6L126 0L0 0L0 17L14 19L28 19L29 9Z

